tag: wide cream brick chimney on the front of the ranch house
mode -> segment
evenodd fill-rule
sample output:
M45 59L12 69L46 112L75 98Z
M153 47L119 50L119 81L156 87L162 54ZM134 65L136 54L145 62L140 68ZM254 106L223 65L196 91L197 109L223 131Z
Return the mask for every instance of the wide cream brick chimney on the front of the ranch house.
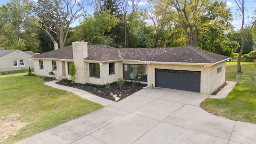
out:
M87 42L72 42L73 60L76 66L76 83L85 84L88 70L86 70L86 63L84 59L88 57Z

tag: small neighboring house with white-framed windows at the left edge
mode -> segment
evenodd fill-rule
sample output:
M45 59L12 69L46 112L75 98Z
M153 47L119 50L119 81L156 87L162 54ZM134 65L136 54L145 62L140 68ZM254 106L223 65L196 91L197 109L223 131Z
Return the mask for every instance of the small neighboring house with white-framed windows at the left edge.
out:
M35 55L32 51L4 50L1 48L0 71L34 68L34 62L30 60L30 57Z

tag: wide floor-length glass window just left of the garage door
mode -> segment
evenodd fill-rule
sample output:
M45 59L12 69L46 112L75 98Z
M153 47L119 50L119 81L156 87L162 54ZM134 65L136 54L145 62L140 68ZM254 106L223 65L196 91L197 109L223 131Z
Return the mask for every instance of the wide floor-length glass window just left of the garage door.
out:
M124 80L148 81L147 65L123 64Z

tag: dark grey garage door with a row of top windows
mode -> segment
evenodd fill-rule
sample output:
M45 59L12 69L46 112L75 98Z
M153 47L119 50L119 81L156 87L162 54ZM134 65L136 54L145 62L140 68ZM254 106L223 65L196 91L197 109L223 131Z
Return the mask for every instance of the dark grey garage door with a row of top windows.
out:
M156 87L200 92L201 72L156 69Z

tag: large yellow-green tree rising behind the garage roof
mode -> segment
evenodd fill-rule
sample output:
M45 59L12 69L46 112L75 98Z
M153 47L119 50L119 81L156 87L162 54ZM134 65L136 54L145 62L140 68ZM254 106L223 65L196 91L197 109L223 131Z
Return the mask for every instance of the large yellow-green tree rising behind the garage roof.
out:
M186 45L198 46L210 28L230 27L230 10L225 2L211 0L170 0L174 20L183 28Z

